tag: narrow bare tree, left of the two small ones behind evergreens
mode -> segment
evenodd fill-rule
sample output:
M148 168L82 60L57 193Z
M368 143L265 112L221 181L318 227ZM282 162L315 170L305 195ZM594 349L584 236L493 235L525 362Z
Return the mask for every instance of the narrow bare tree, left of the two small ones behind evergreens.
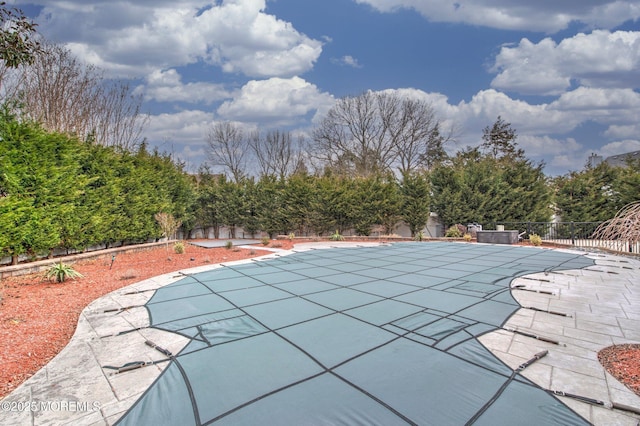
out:
M240 182L245 176L249 149L242 128L229 121L220 121L209 128L206 138L211 164L224 167L235 182Z

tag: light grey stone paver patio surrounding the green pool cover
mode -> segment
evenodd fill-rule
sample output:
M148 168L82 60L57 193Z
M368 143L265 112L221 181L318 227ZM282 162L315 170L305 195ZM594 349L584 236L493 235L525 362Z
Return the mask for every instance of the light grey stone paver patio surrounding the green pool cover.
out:
M349 245L369 244L309 243L296 246L296 251ZM286 254L278 252L267 258ZM532 353L547 350L545 357L522 372L525 377L543 389L602 401L604 405L600 406L560 397L595 425L637 425L640 415L632 411L640 412L640 397L604 371L597 352L612 344L640 343L640 260L597 253L588 257L595 260L594 266L531 274L511 283L514 297L525 308L518 310L504 328L544 336L559 344L505 329L485 334L479 340L513 369L530 359ZM211 268L193 268L188 273ZM69 345L2 401L0 424L115 423L168 362L126 374L112 374L103 366L121 366L132 360L164 360L163 354L145 345L147 340L174 354L184 347L188 339L183 336L145 328L149 318L142 306L153 290L182 278L182 273L158 276L91 303L83 311ZM117 335L132 329L137 330L127 333L126 338Z

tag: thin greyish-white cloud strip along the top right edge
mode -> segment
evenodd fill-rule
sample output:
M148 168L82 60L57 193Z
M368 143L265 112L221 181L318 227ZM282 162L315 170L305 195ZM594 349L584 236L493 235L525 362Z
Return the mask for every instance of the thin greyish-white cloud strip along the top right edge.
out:
M381 12L414 9L430 21L460 22L484 27L554 33L572 22L613 28L640 17L636 0L355 0Z

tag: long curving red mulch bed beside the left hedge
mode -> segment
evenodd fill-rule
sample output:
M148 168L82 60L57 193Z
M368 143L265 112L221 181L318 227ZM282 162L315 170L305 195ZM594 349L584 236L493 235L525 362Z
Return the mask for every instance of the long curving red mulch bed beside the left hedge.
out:
M291 241L272 242L283 249ZM0 283L0 398L45 366L75 332L80 312L95 299L138 281L181 269L268 254L249 249L206 249L185 244L81 261L73 265L83 278L58 284L43 273L11 277ZM193 260L192 260L193 259Z

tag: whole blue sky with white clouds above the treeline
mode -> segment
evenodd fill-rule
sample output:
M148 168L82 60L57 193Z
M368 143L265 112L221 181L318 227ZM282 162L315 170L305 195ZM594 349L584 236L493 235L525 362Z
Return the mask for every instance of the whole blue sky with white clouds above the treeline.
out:
M11 2L9 2L11 3ZM130 79L145 136L195 170L217 121L309 135L336 99L398 91L457 129L497 116L550 175L640 150L640 0L18 1L48 40Z

